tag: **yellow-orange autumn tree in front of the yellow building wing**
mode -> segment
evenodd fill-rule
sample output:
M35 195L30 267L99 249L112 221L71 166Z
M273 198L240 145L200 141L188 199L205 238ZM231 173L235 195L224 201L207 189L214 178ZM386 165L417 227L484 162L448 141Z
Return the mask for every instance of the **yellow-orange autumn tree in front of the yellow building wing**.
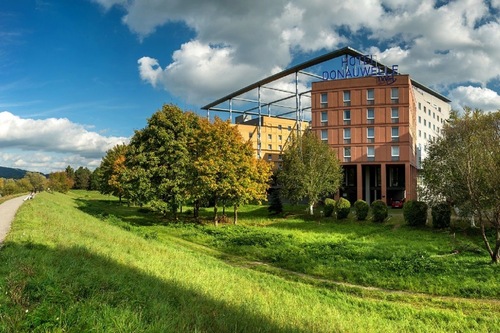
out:
M252 147L244 142L235 126L215 118L213 123L199 121L191 156L191 197L196 202L210 198L214 202L214 222L218 220L218 205L232 204L234 223L238 207L252 200L264 200L271 168L254 157Z

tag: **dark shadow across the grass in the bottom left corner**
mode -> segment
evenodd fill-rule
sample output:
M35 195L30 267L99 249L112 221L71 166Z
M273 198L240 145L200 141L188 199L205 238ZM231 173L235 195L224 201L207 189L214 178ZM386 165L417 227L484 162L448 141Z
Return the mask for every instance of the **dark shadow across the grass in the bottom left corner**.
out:
M7 243L0 259L2 332L302 332L84 247Z

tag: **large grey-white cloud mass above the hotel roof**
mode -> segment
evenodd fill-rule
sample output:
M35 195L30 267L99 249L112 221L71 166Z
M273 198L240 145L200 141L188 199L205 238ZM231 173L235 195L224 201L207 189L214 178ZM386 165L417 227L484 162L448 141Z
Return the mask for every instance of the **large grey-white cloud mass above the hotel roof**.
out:
M297 55L353 46L432 88L485 87L500 73L499 0L94 0L123 6L140 38L183 22L195 38L160 65L144 55L142 79L201 104L287 68Z

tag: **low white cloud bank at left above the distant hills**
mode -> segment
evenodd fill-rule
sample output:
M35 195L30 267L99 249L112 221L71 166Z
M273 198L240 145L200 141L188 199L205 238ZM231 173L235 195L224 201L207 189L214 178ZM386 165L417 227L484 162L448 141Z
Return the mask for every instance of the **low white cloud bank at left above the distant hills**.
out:
M95 168L124 137L105 137L66 118L25 119L0 112L0 165L51 172L68 165Z

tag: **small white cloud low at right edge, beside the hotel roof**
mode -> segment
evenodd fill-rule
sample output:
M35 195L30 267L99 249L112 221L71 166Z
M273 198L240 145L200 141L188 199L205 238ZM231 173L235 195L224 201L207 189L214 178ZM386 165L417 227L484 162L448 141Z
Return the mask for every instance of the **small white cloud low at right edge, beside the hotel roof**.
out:
M450 97L455 110L462 110L464 106L483 111L500 110L500 95L488 88L460 86L450 91Z

